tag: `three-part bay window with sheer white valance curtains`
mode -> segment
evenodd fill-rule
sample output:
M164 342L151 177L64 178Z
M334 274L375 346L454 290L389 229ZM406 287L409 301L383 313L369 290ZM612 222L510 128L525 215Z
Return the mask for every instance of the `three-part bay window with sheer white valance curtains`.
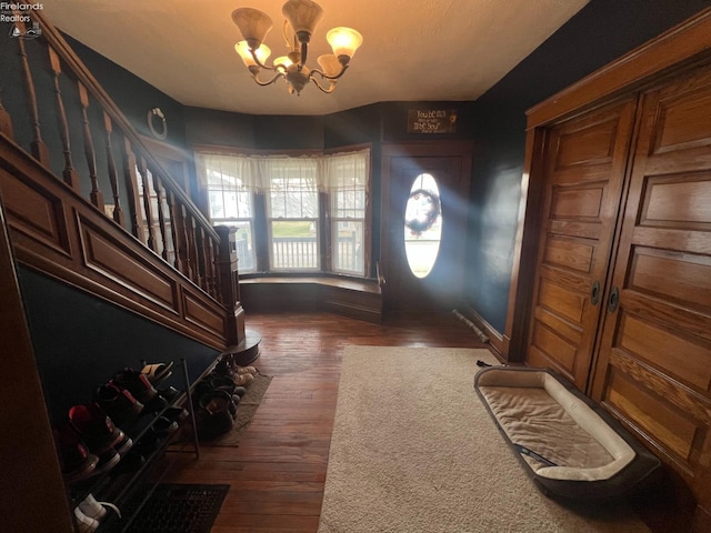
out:
M240 273L368 275L370 150L302 157L206 151L197 163L212 223L239 229Z

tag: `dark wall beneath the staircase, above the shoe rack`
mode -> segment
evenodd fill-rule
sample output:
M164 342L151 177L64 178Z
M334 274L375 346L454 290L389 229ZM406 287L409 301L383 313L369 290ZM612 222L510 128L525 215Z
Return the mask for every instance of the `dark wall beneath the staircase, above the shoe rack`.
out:
M26 268L18 269L37 366L52 422L72 405L92 401L94 389L140 362L173 361L161 388L184 389L181 360L194 381L219 352Z

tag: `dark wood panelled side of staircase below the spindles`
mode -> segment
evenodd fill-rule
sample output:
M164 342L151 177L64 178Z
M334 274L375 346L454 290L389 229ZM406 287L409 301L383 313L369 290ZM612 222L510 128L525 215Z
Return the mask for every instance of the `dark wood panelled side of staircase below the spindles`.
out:
M219 302L2 135L0 148L19 262L217 350L228 346Z

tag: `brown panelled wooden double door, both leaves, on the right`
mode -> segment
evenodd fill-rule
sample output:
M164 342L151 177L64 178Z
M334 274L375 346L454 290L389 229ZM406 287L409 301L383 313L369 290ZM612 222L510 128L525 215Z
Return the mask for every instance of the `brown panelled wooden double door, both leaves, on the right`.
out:
M527 362L711 503L711 66L545 130Z

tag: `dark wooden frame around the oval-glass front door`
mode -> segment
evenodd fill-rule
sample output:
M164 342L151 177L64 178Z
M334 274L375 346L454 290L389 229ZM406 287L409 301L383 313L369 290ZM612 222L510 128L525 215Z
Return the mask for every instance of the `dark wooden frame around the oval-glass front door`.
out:
M391 160L394 158L459 158L462 164L462 179L459 192L465 197L469 203L469 185L471 182L472 160L473 160L473 141L421 141L421 142L393 142L382 144L381 155L381 183L380 183L380 271L384 278L383 286L383 312L390 309L388 301L388 278L392 273L393 258L390 245L389 231L389 207L391 202ZM468 172L469 170L469 172ZM464 215L462 221L463 235L462 244L467 243L468 218ZM462 253L462 274L465 271L463 262L465 253ZM463 281L463 280L462 280Z

